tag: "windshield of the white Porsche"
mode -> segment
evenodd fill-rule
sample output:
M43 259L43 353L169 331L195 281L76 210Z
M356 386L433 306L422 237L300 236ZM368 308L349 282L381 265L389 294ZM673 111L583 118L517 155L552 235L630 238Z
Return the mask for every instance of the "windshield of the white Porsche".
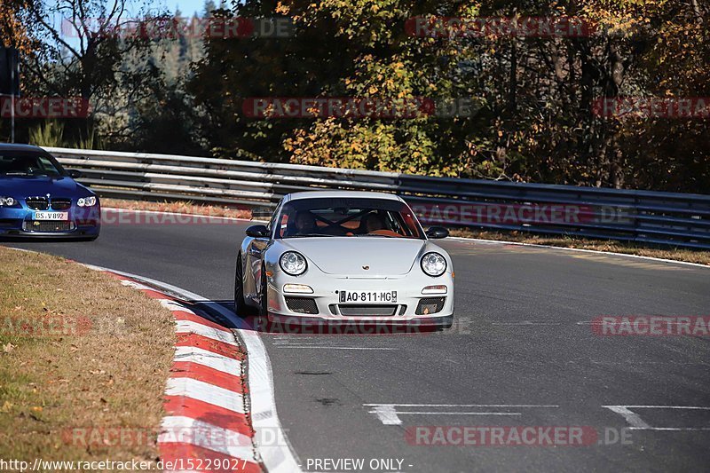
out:
M298 199L277 222L276 238L425 238L406 203L385 199Z

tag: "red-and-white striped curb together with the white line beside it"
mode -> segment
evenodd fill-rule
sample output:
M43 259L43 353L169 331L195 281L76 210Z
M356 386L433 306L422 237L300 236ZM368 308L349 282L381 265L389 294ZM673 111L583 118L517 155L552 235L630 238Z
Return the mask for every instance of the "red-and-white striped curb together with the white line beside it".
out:
M170 471L300 471L274 404L272 369L264 344L243 325L235 331L206 319L191 303L201 296L160 281L88 265L158 299L176 319L175 357L165 390L158 450ZM147 286L143 284L151 284ZM243 324L224 307L213 307ZM247 355L248 352L248 362Z

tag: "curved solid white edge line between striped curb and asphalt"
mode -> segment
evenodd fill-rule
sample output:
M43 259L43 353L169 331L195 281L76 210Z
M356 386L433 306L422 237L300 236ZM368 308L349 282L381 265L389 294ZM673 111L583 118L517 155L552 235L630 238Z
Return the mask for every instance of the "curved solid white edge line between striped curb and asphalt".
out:
M90 267L90 265L87 265L87 267ZM255 333L253 329L249 328L243 319L237 317L233 311L230 311L220 304L214 303L205 297L194 294L183 288L177 288L166 282L99 266L91 266L91 268L98 271L110 271L128 278L140 280L182 299L204 304L210 309L219 312L226 319L229 319L235 327L239 327L236 328L235 331L240 335L241 340L247 348L249 398L251 400L252 410L251 421L252 427L255 430L254 445L269 473L302 471L299 466L300 463L296 461L297 455L288 442L288 437L286 437L286 433L281 427L279 416L276 412L276 402L273 395L272 365L269 355L266 353L261 337ZM274 432L277 432L279 438L283 439L282 443L279 445L272 445L271 443L263 445L259 443L258 438L269 438L268 436L272 435Z

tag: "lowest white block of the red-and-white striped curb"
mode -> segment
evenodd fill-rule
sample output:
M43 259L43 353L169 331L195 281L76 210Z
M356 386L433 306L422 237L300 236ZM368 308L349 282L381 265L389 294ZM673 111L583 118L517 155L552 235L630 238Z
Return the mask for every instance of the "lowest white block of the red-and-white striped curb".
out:
M246 461L254 461L251 438L234 430L223 429L182 415L169 415L162 419L158 443L185 443L197 445L213 452Z

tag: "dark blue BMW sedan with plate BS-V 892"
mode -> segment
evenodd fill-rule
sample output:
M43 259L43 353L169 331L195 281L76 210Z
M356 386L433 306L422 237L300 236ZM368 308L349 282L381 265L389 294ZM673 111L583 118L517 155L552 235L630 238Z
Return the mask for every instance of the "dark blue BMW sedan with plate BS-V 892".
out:
M0 144L0 238L96 240L99 198L42 148Z

